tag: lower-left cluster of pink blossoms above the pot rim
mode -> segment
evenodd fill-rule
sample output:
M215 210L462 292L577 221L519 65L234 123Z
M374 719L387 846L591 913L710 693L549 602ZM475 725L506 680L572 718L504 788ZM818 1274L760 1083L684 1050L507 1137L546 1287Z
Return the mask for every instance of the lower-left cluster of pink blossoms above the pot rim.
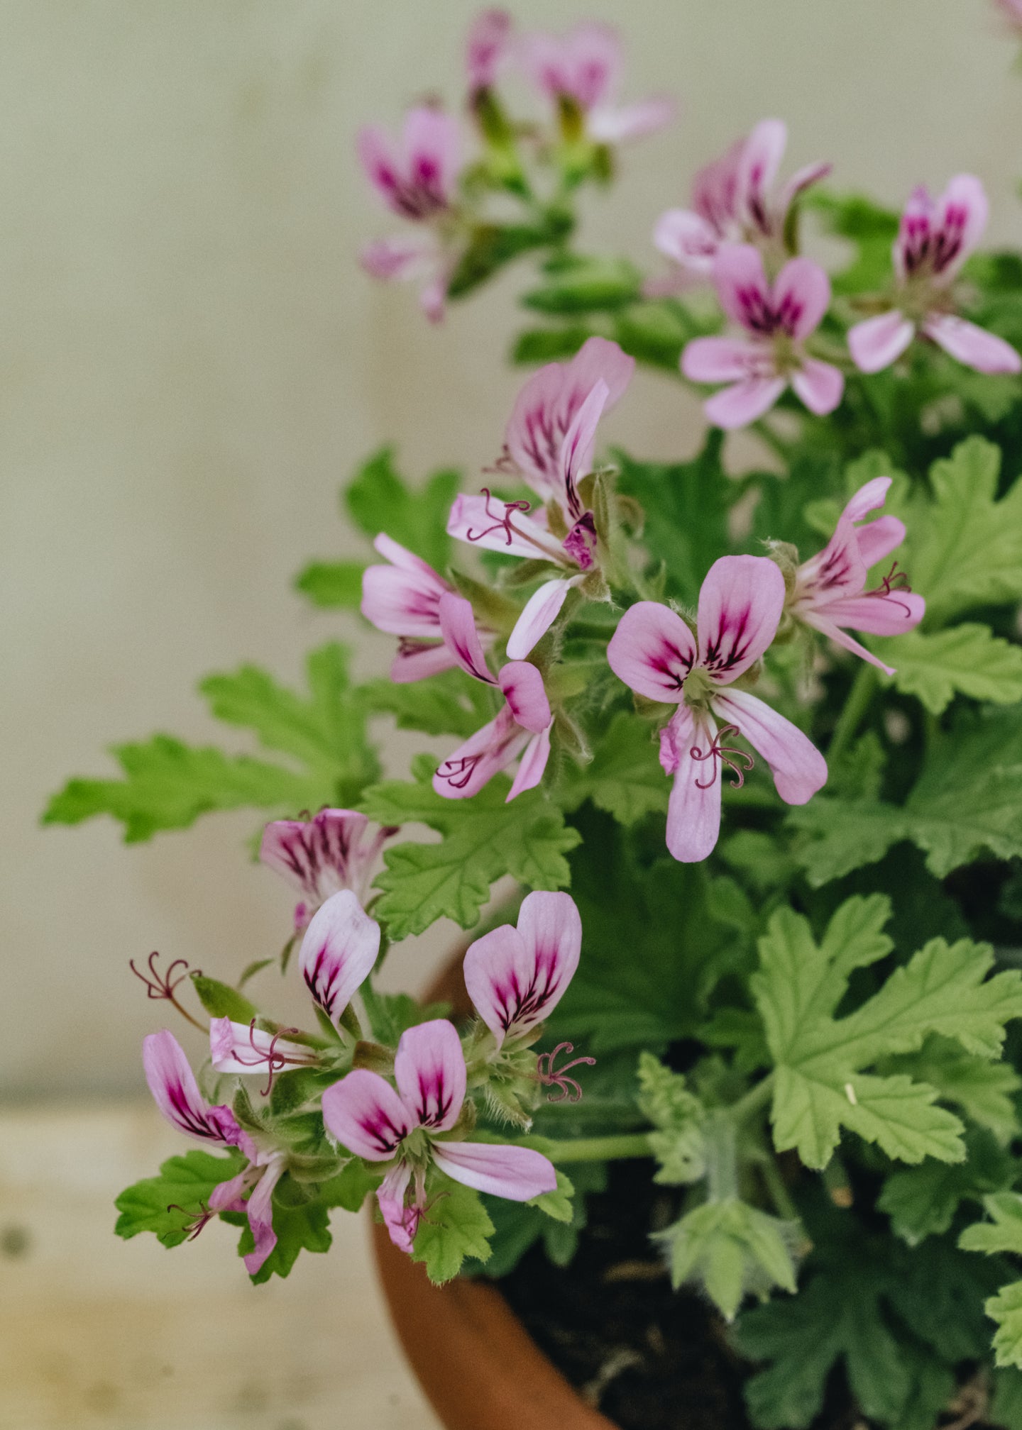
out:
M299 882L309 902L323 889L344 885L308 918L298 958L315 1007L338 1032L338 1047L351 1041L348 1010L369 977L381 944L379 925L348 887L352 877L364 879L365 858L372 848L368 844L352 858L351 844L365 832L352 824L359 818L346 809L325 809L305 825L271 824L263 839L266 862ZM346 835L354 835L348 849ZM292 858L296 848L301 852ZM567 894L535 892L522 901L517 928L504 925L471 945L465 955L465 984L480 1020L467 1041L474 1084L485 1087L490 1068L507 1070L515 1054L535 1041L578 967L581 937L578 909ZM229 1018L210 1021L209 1057L215 1072L265 1078L261 1093L268 1095L273 1077L286 1068L329 1071L332 1054L322 1038L261 1021L265 1025L256 1025L256 1020L248 1027ZM213 1188L195 1213L190 1230L198 1234L220 1211L243 1211L253 1240L245 1264L255 1276L276 1246L272 1195L289 1167L286 1145L273 1138L272 1128L261 1133L242 1127L229 1105L210 1105L167 1030L145 1040L143 1065L153 1098L169 1123L195 1141L236 1148L243 1155L242 1170ZM391 1238L402 1251L411 1253L427 1211L431 1167L467 1187L511 1201L530 1201L557 1185L557 1174L541 1153L468 1140L474 1127L467 1107L468 1071L457 1028L445 1018L435 1018L401 1035L392 1055L392 1080L355 1067L322 1094L326 1131L342 1153L384 1168L376 1200ZM554 1071L548 1054L534 1058L534 1071L521 1075L537 1088L557 1085L565 1094L577 1088L564 1070Z

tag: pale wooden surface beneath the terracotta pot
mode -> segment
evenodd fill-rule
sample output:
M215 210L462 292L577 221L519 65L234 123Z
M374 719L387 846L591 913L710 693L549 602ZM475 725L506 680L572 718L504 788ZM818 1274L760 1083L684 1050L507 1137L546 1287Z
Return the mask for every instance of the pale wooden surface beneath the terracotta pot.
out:
M0 1430L438 1430L365 1218L259 1287L232 1227L113 1236L113 1197L183 1150L152 1105L0 1111Z

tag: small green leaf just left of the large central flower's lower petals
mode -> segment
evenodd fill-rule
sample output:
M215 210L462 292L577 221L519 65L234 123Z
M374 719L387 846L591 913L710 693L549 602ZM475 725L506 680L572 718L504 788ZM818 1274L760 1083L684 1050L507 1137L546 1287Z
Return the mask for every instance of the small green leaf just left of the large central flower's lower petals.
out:
M630 711L618 711L588 765L571 766L561 804L577 809L591 799L618 824L666 814L670 781L660 768L656 732Z

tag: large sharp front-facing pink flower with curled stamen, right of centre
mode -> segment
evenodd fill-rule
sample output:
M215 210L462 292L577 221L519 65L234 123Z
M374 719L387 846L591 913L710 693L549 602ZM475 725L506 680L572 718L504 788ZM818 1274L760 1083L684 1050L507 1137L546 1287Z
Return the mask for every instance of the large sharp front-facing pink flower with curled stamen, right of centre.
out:
M684 864L704 859L720 834L719 762L741 784L751 755L726 745L743 735L769 764L777 794L806 804L826 782L823 755L790 721L731 682L763 655L784 608L784 578L766 556L721 556L699 593L697 636L677 612L640 601L607 648L614 674L677 712L660 732L660 764L674 775L667 848ZM724 724L717 728L717 719Z

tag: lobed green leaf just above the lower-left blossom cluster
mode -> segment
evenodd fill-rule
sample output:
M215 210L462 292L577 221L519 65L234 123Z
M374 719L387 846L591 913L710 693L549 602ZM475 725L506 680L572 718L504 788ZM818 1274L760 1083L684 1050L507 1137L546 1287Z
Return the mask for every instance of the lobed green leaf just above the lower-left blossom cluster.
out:
M386 921L391 938L421 934L438 918L471 928L504 874L532 889L570 882L564 855L578 844L578 832L565 827L541 789L507 804L508 788L498 775L471 799L445 799L428 779L392 779L365 791L361 808L371 819L417 821L444 835L439 844L405 842L386 851L374 914Z

